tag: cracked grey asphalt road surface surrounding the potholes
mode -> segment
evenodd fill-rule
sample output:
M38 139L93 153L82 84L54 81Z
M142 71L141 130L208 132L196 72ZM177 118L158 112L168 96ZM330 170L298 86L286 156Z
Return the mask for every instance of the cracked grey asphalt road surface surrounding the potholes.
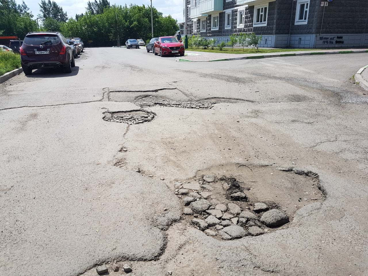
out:
M184 63L91 48L71 74L0 84L0 275L97 275L115 261L137 276L368 275L368 93L351 79L367 63L367 54ZM155 119L129 127L102 119L147 99L215 104L145 107ZM257 237L206 236L182 215L174 182L248 179L242 165L311 170L326 198L283 197L286 178L254 174L254 198L286 202L291 222Z

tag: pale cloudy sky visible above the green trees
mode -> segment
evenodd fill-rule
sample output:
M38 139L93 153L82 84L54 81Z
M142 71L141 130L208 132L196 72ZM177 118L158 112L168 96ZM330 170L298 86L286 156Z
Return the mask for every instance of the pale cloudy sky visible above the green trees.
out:
M22 3L22 0L16 0L18 4ZM32 14L37 17L39 14L39 6L38 3L41 0L24 0L29 9L32 11ZM88 0L54 0L58 5L63 7L63 10L67 12L68 17L75 18L75 14L85 13L86 6ZM137 1L124 1L124 0L109 0L110 4L117 5L125 5L128 6L132 4L142 5L145 4L151 5L150 0L137 0ZM183 21L183 0L152 0L152 6L155 7L158 11L163 13L163 15L171 15L174 19L178 20L178 22Z

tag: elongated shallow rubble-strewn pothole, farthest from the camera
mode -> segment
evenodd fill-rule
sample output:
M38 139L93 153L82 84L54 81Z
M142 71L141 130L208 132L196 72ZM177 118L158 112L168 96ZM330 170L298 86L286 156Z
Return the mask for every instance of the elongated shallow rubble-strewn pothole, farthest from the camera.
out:
M211 109L215 105L215 102L181 102L159 96L142 96L135 99L134 104L142 108L152 106L166 106L179 108Z

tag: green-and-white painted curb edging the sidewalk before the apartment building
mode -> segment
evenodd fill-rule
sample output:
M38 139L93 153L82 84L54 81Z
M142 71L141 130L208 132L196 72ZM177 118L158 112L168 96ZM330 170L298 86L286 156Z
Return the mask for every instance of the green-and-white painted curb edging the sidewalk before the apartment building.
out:
M267 57L295 57L295 56L314 56L319 54L355 54L355 53L368 53L368 50L348 50L348 51L328 51L328 52L303 52L303 53L279 53L279 54L265 54L259 56L248 56L248 57L229 57L227 59L215 59L215 60L188 60L183 57L176 57L175 61L189 61L189 62L210 62L210 61L229 61L229 60L240 60L240 59L265 59Z

